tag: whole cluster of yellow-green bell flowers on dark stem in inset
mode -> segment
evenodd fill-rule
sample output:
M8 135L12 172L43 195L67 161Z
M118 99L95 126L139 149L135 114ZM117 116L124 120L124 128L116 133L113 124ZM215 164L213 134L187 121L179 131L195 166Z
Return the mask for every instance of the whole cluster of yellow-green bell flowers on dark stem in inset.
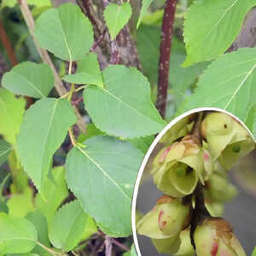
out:
M180 121L161 139L151 174L164 195L137 222L159 253L178 256L246 255L232 227L219 218L236 195L227 171L253 150L247 130L226 113L206 112Z

